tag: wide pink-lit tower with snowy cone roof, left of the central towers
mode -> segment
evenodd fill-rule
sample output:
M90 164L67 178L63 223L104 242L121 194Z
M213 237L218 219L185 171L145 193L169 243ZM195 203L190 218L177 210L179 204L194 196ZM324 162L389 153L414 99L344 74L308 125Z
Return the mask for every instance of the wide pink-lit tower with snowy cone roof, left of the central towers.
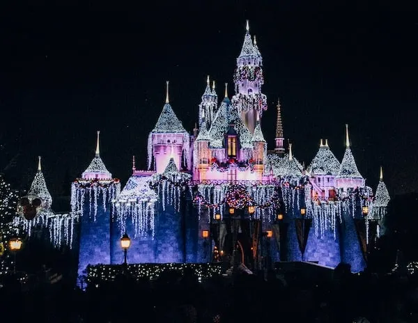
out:
M154 129L148 135L148 169L154 158L155 170L163 173L169 160L174 159L182 169L182 155L185 164L189 155L190 136L185 130L169 102L169 81L167 81L166 102ZM184 154L183 154L184 152Z

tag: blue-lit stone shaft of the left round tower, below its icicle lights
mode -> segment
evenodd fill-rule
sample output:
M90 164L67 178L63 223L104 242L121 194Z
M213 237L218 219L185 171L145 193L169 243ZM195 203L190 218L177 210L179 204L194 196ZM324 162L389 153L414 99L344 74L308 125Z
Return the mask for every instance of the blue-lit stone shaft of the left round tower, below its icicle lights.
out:
M101 195L98 198L96 221L93 221L93 214L89 216L89 212L89 198L86 196L80 219L79 275L83 274L87 265L110 264L110 210L107 207L104 211Z

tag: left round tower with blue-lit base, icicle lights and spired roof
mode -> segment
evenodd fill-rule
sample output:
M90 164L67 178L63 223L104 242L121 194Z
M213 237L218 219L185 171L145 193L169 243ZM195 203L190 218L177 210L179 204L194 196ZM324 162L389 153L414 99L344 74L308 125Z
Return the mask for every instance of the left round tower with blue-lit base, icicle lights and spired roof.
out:
M83 275L87 265L111 263L111 201L121 191L121 183L112 178L100 157L98 132L95 157L82 178L71 186L72 212L80 215L79 266Z

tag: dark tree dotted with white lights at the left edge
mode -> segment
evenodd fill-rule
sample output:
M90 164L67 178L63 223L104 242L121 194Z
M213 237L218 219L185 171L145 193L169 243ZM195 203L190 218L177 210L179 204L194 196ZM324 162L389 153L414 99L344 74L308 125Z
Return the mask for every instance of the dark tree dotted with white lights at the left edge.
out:
M0 276L10 271L10 253L8 252L8 242L10 237L16 235L16 229L13 228L12 221L16 215L17 192L10 188L3 175L0 174Z

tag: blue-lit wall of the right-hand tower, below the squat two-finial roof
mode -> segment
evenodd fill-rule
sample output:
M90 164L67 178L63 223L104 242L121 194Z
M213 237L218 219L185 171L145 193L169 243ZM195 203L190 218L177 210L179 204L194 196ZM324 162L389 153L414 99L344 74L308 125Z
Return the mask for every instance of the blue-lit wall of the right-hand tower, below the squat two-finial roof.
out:
M336 220L336 237L334 239L334 230L328 228L319 237L315 233L313 224L309 230L307 249L304 253L304 260L315 261L319 265L336 267L341 262L339 220Z

